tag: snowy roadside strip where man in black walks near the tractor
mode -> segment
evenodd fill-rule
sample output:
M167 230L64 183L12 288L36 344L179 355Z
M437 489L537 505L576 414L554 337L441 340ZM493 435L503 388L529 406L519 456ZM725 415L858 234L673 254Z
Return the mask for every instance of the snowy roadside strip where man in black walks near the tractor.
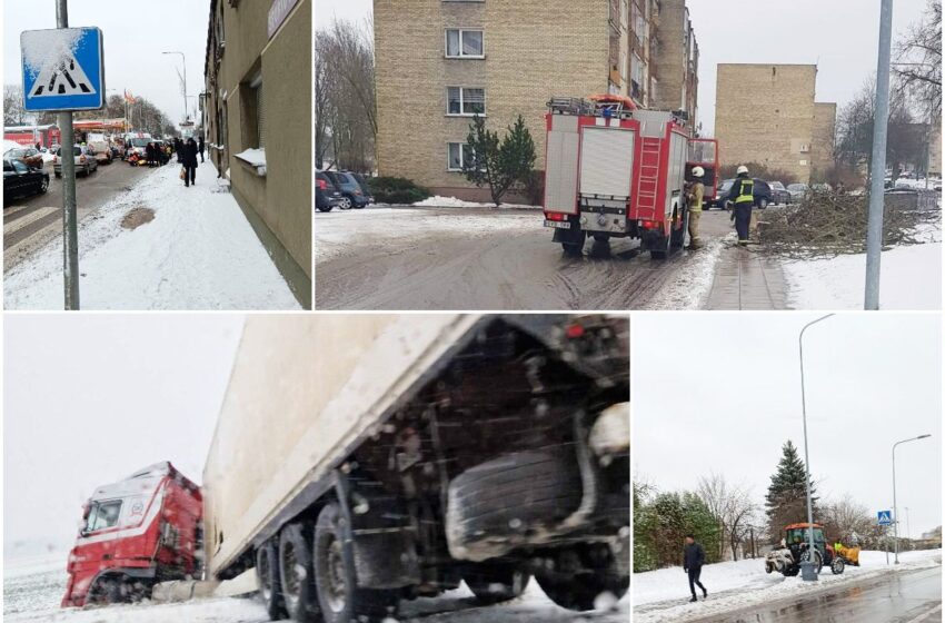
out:
M816 583L804 582L799 576L767 574L763 558L717 563L703 567L702 581L709 591L709 599L698 603L688 603L688 580L682 567L635 573L630 580L634 621L669 623L703 619L792 594L803 595L824 587L853 584L891 572L937 566L941 558L942 550L904 552L899 554L902 564L894 566L892 555L891 564L886 564L885 552L862 552L861 566L847 566L842 575L833 575L825 568Z

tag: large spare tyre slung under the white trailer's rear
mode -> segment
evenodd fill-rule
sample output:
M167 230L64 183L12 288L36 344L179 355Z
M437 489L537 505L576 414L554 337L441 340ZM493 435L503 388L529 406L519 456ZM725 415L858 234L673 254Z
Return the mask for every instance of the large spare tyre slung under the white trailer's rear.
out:
M501 555L574 513L583 492L571 446L510 453L467 469L449 483L450 552L460 560L474 550Z

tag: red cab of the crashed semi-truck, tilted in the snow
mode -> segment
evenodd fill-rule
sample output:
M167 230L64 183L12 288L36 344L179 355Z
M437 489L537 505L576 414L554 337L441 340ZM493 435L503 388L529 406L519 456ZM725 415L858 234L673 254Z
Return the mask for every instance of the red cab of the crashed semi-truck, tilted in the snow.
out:
M69 553L62 607L136 601L156 582L196 577L202 521L200 488L168 462L99 487Z

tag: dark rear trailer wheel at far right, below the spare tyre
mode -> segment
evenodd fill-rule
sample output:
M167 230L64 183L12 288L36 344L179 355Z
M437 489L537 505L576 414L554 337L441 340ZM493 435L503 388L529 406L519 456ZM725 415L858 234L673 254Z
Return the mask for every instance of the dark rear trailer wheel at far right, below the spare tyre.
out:
M616 601L630 586L610 547L600 543L563 550L549 562L536 570L535 580L549 600L568 610L595 610L603 594L609 593Z

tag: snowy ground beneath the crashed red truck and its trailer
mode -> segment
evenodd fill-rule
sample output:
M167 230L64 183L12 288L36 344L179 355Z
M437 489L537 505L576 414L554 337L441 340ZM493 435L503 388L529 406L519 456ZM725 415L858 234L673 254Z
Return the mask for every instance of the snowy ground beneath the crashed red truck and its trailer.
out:
M57 566L58 565L58 566ZM60 563L12 570L3 580L4 623L266 623L253 599L212 599L182 604L139 604L106 609L61 610L66 576ZM553 604L533 581L518 600L479 606L461 586L437 599L404 602L398 623L627 623L629 596L608 612L577 614Z

